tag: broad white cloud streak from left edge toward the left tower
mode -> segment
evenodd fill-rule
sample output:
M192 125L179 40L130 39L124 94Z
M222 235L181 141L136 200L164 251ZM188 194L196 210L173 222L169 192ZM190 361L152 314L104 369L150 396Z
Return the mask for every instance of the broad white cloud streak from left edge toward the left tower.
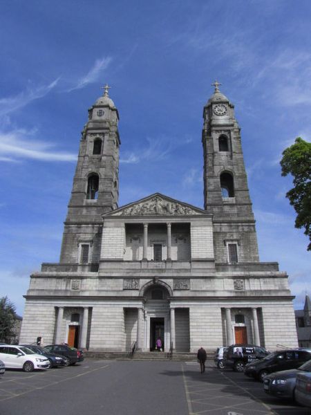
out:
M76 154L52 151L53 145L34 140L30 136L31 132L25 130L0 132L0 160L12 163L23 159L42 161L75 161L77 159Z

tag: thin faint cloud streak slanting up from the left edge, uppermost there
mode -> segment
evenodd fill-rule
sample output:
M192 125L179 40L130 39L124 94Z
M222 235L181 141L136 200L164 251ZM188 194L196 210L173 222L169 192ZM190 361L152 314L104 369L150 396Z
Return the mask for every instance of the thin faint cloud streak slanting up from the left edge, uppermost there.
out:
M28 88L26 91L22 91L21 93L8 97L8 98L0 98L0 116L5 116L16 109L23 108L33 100L37 100L39 98L44 97L48 94L59 82L60 77L56 80L51 82L48 85L41 85L35 88Z

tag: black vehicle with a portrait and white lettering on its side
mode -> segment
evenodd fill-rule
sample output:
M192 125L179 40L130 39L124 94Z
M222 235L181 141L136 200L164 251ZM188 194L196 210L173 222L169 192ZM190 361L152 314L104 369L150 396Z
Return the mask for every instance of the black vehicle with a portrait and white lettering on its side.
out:
M263 359L269 353L264 347L253 344L232 344L223 355L223 364L225 368L243 372L247 363Z

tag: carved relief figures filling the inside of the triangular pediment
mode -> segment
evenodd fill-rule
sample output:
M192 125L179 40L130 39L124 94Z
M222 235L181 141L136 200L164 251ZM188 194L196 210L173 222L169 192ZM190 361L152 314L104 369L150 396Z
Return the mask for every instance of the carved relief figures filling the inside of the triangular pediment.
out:
M148 201L131 205L116 212L115 216L143 216L143 215L191 215L199 214L196 210L189 208L189 206L180 203L171 202L162 199L160 196L155 196Z

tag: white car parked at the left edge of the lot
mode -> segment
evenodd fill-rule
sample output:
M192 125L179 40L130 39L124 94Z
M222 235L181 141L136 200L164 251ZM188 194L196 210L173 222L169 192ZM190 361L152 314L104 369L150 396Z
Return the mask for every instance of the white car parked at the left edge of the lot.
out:
M45 356L34 353L27 347L5 344L0 346L0 360L6 365L6 369L48 369L50 362Z

